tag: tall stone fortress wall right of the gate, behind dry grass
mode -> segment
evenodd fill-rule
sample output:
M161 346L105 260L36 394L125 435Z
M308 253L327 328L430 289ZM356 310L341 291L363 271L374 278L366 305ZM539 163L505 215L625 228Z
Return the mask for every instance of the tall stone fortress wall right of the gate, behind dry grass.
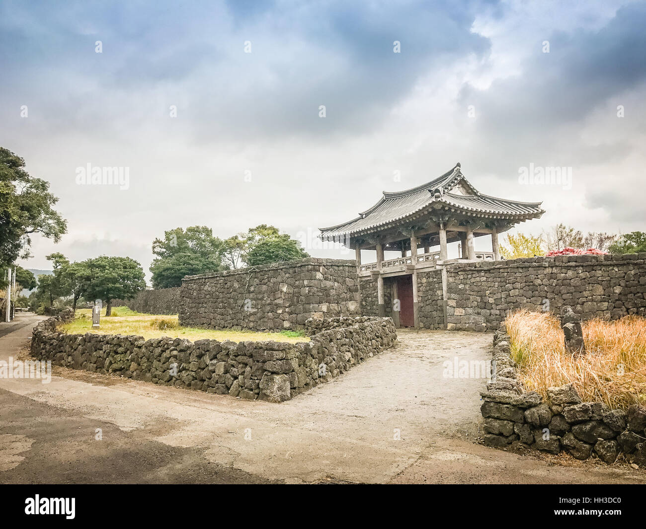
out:
M574 255L447 266L448 329L497 329L514 309L559 313L569 305L584 319L645 314L646 253Z

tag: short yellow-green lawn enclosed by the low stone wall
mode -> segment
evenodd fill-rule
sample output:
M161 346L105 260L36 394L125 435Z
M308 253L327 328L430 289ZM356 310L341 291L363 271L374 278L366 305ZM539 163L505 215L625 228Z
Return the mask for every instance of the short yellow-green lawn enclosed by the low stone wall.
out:
M112 309L116 316L101 316L99 329L92 329L92 316L90 309L79 309L76 311L76 319L67 324L59 326L59 331L67 334L97 333L102 335L137 335L146 340L160 338L162 336L171 338L186 338L195 340L231 340L232 342L259 342L263 340L275 340L276 342L309 342L309 338L300 333L254 333L246 331L212 331L210 329L198 329L196 327L180 327L178 316L159 316L152 314L140 314L133 311L121 310L122 307ZM133 315L118 315L122 314Z

